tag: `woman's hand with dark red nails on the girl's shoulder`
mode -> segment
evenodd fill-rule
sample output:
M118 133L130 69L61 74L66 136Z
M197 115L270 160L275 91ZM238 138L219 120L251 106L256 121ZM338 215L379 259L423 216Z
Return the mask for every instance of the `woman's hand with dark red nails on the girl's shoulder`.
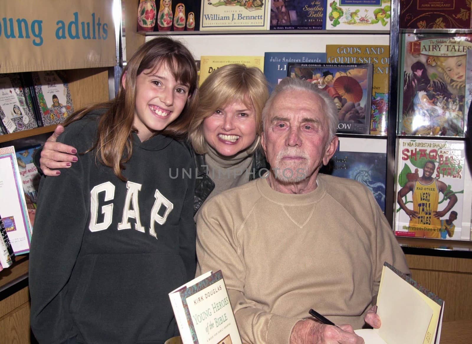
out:
M56 142L63 132L64 127L59 124L44 144L39 162L45 176L59 176L60 171L56 168L69 168L78 160L74 147Z

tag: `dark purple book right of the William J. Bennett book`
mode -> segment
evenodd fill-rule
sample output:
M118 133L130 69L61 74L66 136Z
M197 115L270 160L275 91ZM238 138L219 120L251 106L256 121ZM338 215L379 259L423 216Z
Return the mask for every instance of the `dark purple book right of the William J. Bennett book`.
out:
M273 0L270 30L322 30L324 0Z

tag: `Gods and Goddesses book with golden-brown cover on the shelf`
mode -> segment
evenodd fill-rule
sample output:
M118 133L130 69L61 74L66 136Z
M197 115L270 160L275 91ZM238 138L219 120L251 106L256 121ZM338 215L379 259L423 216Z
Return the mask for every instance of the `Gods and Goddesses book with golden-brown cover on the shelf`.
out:
M328 63L373 64L371 135L387 135L388 76L390 47L388 45L326 45Z

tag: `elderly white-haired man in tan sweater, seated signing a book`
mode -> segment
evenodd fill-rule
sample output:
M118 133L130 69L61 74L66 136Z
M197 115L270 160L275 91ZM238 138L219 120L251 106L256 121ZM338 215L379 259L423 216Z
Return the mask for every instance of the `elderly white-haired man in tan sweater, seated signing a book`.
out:
M409 273L405 256L366 187L318 173L338 144L326 92L284 79L262 116L272 169L203 205L197 273L222 270L245 343L362 343L353 328L380 325L383 263Z

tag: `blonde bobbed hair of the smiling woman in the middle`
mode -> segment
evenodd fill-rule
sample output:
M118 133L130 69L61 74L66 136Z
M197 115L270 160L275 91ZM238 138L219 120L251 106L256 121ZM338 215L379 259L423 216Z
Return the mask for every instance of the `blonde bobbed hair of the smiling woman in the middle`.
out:
M262 109L269 98L267 80L260 69L246 67L244 64L227 64L213 71L200 86L200 103L192 122L189 137L195 152L206 153L203 135L203 120L213 112L233 101L242 101L253 106L256 120L256 140L262 132ZM248 104L248 102L250 102ZM259 144L253 146L257 149Z

